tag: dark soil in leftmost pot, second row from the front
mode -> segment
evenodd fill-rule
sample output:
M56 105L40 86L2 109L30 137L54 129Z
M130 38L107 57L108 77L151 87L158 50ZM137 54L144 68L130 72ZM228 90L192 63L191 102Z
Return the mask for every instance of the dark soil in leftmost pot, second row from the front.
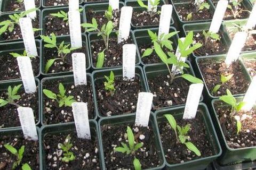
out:
M11 87L13 88L14 86ZM34 94L26 94L23 87L21 87L18 95L20 95L20 99L14 100L15 103L22 107L31 107L34 112L35 122L38 122L38 91ZM4 100L8 98L7 90L0 91L0 98ZM21 126L17 108L17 106L11 104L0 107L0 129Z

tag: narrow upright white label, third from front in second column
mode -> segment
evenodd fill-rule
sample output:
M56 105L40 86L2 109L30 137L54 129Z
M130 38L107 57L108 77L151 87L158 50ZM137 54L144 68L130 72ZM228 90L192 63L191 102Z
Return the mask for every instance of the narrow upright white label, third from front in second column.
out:
M68 12L68 25L72 48L82 47L81 20L79 11Z

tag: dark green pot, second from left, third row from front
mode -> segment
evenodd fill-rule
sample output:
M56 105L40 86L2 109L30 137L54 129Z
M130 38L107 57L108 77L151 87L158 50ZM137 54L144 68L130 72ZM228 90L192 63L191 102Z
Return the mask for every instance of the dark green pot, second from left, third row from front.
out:
M83 47L85 46L86 49L86 53L85 53L85 62L86 62L86 71L89 71L90 67L91 67L91 63L90 63L90 57L89 57L89 49L88 49L88 44L87 44L87 36L85 35L85 33L82 33L82 45ZM65 41L65 44L70 44L70 36L57 36L57 45L59 46L60 43L62 41ZM65 71L65 72L57 72L57 73L45 73L44 69L45 69L45 64L46 64L46 60L45 60L45 49L46 47L44 47L44 41L43 39L41 39L41 70L40 73L42 75L44 75L45 77L50 77L50 76L58 76L58 75L67 75L67 74L72 74L73 71ZM73 52L71 52L72 54ZM57 57L57 56L55 56Z

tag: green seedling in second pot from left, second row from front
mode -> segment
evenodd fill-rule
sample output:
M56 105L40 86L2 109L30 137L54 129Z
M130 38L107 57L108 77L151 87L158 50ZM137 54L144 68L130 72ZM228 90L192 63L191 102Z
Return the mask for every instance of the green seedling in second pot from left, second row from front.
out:
M71 107L72 103L76 102L74 96L66 96L66 90L62 83L59 83L59 94L54 94L54 92L44 89L44 95L50 99L56 100L59 103L59 107Z

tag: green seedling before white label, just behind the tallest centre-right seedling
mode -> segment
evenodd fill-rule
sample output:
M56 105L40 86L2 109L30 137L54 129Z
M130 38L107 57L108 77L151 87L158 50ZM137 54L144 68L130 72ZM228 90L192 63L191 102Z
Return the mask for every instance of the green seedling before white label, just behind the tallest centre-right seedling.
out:
M164 35L164 33L158 38L157 34L153 31L148 30L148 35L151 39L152 43L158 43L159 45L161 45L161 47L166 47L169 50L173 50L172 47L172 41L169 40L171 37L177 35L177 33L179 33L179 31L173 31L168 33L167 35ZM142 54L142 58L146 57L146 56L150 56L153 53L154 47L153 48L147 48L145 50L145 52Z

